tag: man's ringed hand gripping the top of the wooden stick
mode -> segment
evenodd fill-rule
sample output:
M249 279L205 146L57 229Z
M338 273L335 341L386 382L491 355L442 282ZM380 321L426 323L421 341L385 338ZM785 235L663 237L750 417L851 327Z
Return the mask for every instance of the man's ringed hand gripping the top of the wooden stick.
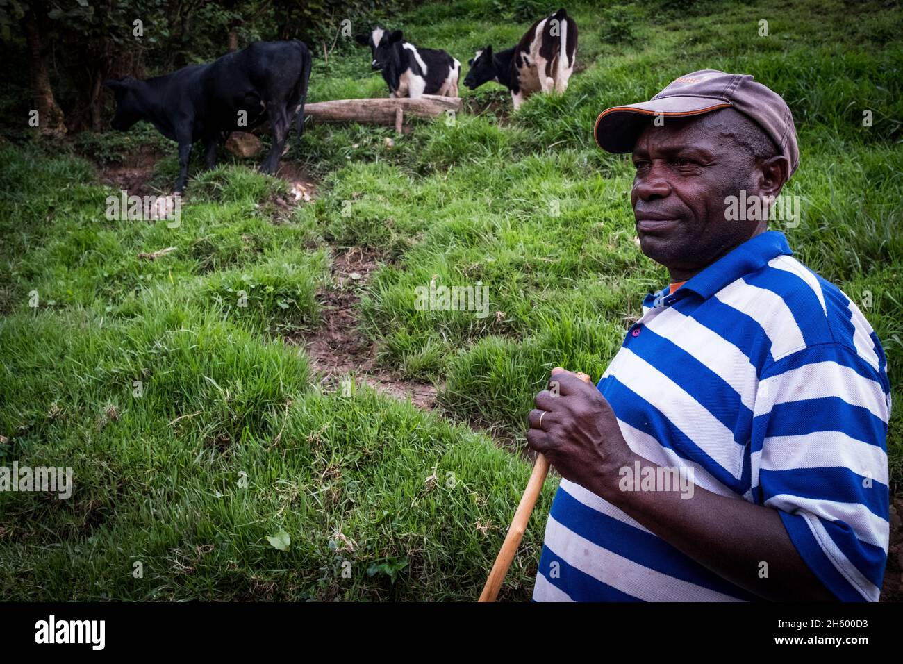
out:
M527 443L567 480L587 488L616 485L632 453L609 402L561 367L552 369L549 387L536 395Z

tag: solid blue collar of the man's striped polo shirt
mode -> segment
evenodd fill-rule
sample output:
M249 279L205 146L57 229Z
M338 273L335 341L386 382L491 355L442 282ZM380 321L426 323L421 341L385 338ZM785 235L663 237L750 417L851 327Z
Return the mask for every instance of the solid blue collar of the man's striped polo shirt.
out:
M737 248L716 260L702 272L690 277L675 295L681 291L693 291L708 299L718 293L726 285L749 275L761 267L768 265L772 258L793 255L784 233L778 230L767 230L754 238L749 238Z

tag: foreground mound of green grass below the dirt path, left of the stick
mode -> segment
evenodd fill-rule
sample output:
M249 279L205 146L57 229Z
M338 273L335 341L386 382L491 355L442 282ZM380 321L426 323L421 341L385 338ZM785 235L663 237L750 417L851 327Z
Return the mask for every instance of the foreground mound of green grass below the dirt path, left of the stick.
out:
M76 309L0 323L17 426L3 458L75 478L71 500L0 494L5 599L479 592L525 463L368 388L323 395L302 353L153 295L121 323ZM267 540L282 530L287 551ZM403 563L396 584L373 569ZM510 581L525 596L530 575Z

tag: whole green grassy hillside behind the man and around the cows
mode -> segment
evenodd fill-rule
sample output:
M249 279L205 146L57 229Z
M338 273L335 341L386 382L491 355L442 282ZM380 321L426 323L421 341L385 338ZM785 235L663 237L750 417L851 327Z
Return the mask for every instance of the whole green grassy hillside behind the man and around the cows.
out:
M398 24L465 62L523 30L488 5L424 5ZM70 465L76 482L68 501L0 493L0 595L475 597L529 466L453 422L519 437L548 369L598 377L642 294L663 283L632 240L628 160L595 149L590 127L600 109L690 70L748 71L790 102L802 159L789 191L803 201L802 223L785 229L791 245L861 305L871 293L863 310L892 379L903 369L903 51L889 45L899 13L839 2L712 2L680 17L569 10L589 68L566 95L509 117L497 86L462 89L491 110L418 124L392 149L388 130L314 127L297 156L325 176L320 198L279 225L272 200L284 184L246 168L200 174L182 227L168 229L104 220L108 192L78 157L0 146L0 433L11 438L0 462ZM340 46L314 67L311 100L385 95L367 63ZM83 149L122 145L108 144ZM154 182L174 167L161 160ZM303 352L283 344L283 332L318 322L327 243L383 257L363 332L387 368L443 385L442 415L367 389L321 394ZM153 262L137 257L167 247ZM415 312L414 287L433 276L489 285L489 317ZM542 522L507 597L529 596ZM280 529L288 551L266 539Z

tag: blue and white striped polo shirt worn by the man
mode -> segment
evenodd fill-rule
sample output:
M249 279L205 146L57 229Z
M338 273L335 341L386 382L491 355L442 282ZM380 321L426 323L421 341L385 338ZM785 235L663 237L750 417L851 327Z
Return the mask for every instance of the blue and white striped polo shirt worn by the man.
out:
M877 601L889 544L887 360L859 308L791 254L768 231L673 295L647 296L599 389L636 454L779 510L833 594ZM756 599L566 480L533 598Z

